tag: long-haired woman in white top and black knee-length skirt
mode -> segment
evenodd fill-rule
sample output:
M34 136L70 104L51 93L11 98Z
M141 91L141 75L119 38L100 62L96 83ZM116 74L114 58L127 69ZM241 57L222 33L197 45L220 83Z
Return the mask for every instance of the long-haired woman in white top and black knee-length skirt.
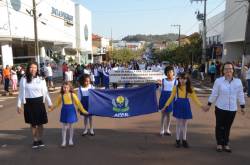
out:
M48 123L45 109L45 99L49 108L52 107L46 82L38 75L38 65L36 62L28 64L25 76L20 80L19 96L17 102L17 112L23 112L21 104L24 104L24 119L30 124L33 146L32 148L43 147L43 124Z

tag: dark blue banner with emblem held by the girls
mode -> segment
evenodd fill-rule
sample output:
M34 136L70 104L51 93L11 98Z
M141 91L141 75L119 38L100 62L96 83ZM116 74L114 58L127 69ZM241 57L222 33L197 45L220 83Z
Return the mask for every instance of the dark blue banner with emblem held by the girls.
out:
M127 118L157 111L155 84L136 88L89 90L89 113L95 116Z

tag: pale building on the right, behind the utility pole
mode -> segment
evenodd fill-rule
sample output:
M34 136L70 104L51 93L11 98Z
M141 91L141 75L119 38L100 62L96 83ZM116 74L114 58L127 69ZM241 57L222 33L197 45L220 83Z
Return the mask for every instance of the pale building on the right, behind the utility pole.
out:
M209 47L213 44L222 44L222 62L241 62L244 58L244 63L250 62L249 44L246 46L246 56L243 57L245 36L250 34L250 31L246 30L250 25L247 14L247 2L227 0L225 11L207 20L207 45Z

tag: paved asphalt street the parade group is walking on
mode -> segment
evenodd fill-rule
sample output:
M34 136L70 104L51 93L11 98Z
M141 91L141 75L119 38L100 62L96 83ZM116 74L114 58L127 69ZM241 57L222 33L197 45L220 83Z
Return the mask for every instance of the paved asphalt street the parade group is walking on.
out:
M197 83L196 83L197 84ZM206 88L197 86L197 90ZM201 88L200 88L201 87ZM201 90L202 91L202 90ZM199 92L203 103L207 92ZM56 94L51 94L55 100ZM247 107L250 99L247 98ZM16 98L0 96L0 164L90 164L90 165L162 165L162 164L241 164L249 165L250 113L237 114L231 132L233 153L215 151L215 117L213 109L201 112L193 105L194 119L189 122L189 149L175 148L175 121L173 136L160 137L160 113L129 118L110 119L94 117L96 136L82 137L83 120L75 125L74 147L60 148L61 126L59 110L49 114L44 141L46 148L31 149L29 126L23 115L16 113Z

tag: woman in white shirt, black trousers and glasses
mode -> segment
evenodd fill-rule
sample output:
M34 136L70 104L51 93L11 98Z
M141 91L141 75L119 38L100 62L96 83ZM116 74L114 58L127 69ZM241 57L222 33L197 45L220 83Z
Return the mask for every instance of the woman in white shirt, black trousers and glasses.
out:
M224 76L215 81L212 94L208 99L207 110L215 102L216 150L231 152L229 135L237 111L237 101L240 103L242 114L245 114L245 98L241 80L233 77L233 63L226 62L222 71Z

